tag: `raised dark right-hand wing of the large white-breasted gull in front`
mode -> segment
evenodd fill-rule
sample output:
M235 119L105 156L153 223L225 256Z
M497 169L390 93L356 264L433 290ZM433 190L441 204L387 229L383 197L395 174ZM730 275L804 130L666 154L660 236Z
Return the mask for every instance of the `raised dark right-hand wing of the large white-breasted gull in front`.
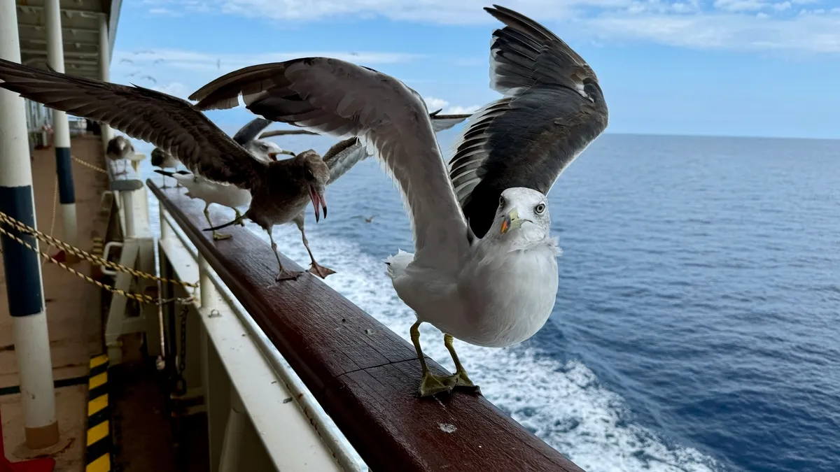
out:
M547 194L608 122L598 79L569 45L513 10L485 8L493 32L491 88L505 97L475 112L454 143L449 177L476 236L491 227L501 191Z

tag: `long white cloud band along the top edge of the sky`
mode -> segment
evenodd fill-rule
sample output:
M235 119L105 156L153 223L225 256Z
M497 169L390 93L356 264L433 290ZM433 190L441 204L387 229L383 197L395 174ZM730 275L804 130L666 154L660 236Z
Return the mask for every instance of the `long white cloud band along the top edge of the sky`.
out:
M486 0L146 0L150 8L317 22L383 17L492 24ZM565 38L642 40L693 49L840 52L840 13L828 0L510 0ZM807 6L811 9L803 9ZM813 17L823 18L817 19ZM562 22L559 27L558 22ZM351 58L355 62L371 60Z

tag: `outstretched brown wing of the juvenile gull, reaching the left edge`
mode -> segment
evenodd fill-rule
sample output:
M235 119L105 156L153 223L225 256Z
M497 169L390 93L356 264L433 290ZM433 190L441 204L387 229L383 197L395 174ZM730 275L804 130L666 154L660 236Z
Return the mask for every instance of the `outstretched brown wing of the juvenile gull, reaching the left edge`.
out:
M0 87L45 107L108 123L132 138L155 144L193 173L213 181L250 188L265 174L265 163L181 98L2 59Z

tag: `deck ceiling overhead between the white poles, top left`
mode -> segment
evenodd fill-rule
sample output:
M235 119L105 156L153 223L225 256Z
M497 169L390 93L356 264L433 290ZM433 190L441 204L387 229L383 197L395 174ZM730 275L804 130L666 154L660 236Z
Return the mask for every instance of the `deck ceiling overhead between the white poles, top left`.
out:
M109 53L113 52L121 4L121 0L60 0L67 74L99 78L98 15L108 15ZM44 0L17 0L17 6L21 62L44 66L47 60Z

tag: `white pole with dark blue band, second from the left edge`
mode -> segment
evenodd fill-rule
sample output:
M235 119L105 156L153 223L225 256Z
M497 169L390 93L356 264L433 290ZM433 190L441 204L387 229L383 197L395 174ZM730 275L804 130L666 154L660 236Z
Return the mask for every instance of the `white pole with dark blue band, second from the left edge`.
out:
M45 0L44 16L47 30L47 62L58 72L64 72L64 45L61 42L61 8L59 0ZM55 171L58 173L58 194L61 203L61 221L64 223L62 239L67 244L79 245L76 222L76 191L73 188L73 162L70 157L70 123L67 114L53 110L53 136L55 142ZM75 263L76 256L67 254Z

